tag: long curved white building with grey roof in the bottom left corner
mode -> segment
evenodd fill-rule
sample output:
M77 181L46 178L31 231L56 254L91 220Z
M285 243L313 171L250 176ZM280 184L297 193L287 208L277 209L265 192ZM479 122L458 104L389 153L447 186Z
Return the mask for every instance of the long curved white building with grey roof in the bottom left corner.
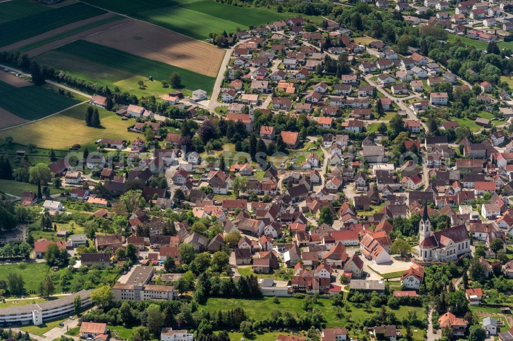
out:
M50 319L73 315L75 311L73 306L75 296L80 296L82 308L92 304L90 300L91 291L81 290L58 300L0 309L0 325L28 325L32 323L38 326Z

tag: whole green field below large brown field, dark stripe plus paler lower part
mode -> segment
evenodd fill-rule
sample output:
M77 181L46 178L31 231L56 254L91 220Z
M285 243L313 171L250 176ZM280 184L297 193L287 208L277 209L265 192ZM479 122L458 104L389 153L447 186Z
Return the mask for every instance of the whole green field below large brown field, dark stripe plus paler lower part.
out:
M186 89L203 89L209 93L214 87L215 78L186 69L178 68L85 40L73 41L54 51L44 53L35 59L55 69L89 81L111 84L132 76L152 76L155 80L169 79L173 72L182 76ZM163 88L162 93L169 91Z

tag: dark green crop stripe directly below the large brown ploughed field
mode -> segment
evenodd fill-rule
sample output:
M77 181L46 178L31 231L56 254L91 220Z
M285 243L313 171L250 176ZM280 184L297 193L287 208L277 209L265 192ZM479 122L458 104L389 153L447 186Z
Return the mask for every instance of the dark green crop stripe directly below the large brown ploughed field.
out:
M139 57L85 40L73 41L55 51L81 57L94 63L105 65L108 68L119 69L130 73L132 76L152 76L155 80L167 80L171 73L179 72L182 76L183 86L189 90L204 89L211 93L215 83L214 77L201 75L160 61Z

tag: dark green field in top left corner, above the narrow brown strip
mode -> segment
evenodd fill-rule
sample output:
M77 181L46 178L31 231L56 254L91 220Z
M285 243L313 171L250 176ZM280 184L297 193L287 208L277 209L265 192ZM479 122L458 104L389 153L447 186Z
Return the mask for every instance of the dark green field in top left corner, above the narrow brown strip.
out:
M23 5L25 7L25 5ZM84 3L35 12L23 17L11 19L0 24L0 46L27 39L50 30L84 20L105 11Z

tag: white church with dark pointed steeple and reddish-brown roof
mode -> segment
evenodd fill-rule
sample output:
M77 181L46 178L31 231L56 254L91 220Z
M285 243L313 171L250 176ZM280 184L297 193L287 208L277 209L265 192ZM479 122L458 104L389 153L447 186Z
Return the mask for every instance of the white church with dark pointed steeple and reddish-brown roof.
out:
M427 203L419 223L419 260L433 262L453 261L470 252L470 238L465 225L433 232L427 215Z

